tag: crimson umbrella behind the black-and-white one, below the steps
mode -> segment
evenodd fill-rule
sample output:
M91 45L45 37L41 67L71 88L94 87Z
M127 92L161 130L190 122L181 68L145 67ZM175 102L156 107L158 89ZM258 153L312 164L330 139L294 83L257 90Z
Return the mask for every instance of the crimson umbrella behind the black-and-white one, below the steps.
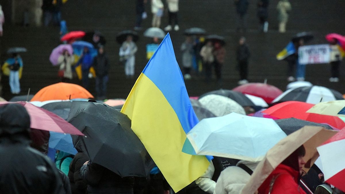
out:
M249 94L253 96L260 97L270 104L277 96L283 93L279 88L263 83L249 83L241 86L237 86L233 89L234 91L239 91L243 94Z

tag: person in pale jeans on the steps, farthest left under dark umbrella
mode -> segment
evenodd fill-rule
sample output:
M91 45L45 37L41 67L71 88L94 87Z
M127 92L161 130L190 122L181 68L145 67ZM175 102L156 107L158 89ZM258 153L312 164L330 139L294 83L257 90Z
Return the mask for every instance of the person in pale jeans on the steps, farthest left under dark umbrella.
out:
M14 53L12 58L7 59L6 62L8 63L10 69L9 84L11 87L11 93L19 94L19 70L21 67L23 67L23 60L17 53Z

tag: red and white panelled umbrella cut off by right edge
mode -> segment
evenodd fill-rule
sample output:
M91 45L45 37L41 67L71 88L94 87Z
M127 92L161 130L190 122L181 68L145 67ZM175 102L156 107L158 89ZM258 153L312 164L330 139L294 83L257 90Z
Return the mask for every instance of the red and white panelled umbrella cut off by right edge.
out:
M317 147L325 181L345 192L345 130L339 131Z

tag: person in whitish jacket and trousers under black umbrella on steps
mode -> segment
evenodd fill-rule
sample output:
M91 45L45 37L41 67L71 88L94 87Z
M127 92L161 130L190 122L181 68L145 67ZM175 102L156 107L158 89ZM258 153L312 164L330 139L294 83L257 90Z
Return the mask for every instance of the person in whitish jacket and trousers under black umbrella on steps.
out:
M134 76L135 54L137 50L138 48L133 42L133 37L128 35L126 41L122 43L119 52L120 61L125 62L125 75L127 78L132 78Z

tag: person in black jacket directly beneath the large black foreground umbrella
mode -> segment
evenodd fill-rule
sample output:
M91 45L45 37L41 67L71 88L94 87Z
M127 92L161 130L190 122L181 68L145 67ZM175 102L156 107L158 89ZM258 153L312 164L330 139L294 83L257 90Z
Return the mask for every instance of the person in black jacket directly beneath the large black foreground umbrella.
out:
M133 194L134 177L122 178L109 169L89 161L80 168L80 173L88 184L87 193L89 194Z

